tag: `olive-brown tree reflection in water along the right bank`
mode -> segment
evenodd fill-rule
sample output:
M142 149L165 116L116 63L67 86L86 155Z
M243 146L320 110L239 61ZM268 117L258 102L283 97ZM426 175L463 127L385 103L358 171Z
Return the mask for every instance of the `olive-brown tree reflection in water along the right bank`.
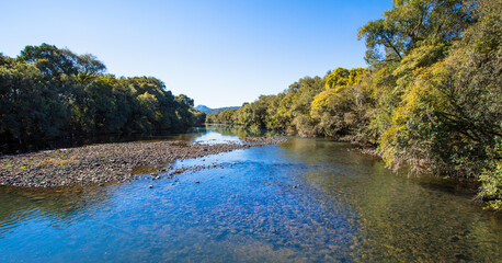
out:
M395 174L350 145L289 139L287 157L309 165L305 182L333 209L344 203L360 217L356 250L365 261L495 262L502 222L469 202L469 185L429 175ZM467 192L466 192L467 191Z

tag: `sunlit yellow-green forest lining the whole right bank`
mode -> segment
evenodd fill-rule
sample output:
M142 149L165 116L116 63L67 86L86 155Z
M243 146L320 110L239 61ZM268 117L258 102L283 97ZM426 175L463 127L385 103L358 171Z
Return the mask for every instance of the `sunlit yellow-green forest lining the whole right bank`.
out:
M502 2L395 0L358 31L367 68L305 77L206 116L373 147L395 170L480 182L502 210Z

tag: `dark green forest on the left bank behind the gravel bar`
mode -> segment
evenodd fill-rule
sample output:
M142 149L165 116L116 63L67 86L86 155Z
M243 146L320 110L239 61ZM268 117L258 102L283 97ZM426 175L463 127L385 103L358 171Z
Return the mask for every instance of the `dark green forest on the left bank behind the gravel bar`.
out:
M193 100L152 77L116 78L93 55L54 45L0 54L0 145L104 134L183 132L203 123Z

